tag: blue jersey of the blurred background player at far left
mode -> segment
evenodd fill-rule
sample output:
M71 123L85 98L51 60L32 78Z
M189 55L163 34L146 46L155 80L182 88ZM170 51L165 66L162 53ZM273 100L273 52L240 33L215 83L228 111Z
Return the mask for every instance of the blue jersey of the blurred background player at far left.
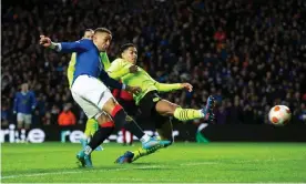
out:
M27 93L17 92L13 101L13 111L17 113L31 114L31 111L35 108L37 100L33 92Z

